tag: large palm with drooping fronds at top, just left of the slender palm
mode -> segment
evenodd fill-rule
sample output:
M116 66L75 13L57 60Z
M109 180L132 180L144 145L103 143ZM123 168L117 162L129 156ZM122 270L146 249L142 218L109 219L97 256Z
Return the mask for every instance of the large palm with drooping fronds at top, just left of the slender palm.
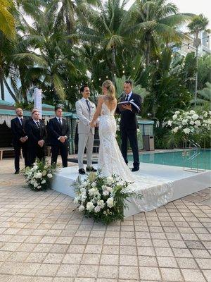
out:
M139 33L141 45L145 47L146 66L150 63L151 52L158 53L159 39L165 42L181 42L181 33L177 28L190 20L191 14L178 13L178 8L166 0L136 0L136 25L134 31Z

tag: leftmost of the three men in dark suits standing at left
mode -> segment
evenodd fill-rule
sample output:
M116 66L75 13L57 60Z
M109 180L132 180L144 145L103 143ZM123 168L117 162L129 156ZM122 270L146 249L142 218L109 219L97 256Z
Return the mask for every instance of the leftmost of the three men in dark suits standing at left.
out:
M13 133L13 147L15 151L15 174L20 171L20 149L23 150L25 166L27 163L27 134L25 132L25 118L23 118L23 110L18 108L15 110L16 118L11 120L11 130Z

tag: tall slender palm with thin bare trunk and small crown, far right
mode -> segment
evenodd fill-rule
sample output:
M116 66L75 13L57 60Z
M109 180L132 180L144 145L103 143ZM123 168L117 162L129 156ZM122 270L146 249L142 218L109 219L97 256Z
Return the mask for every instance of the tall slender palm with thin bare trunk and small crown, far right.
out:
M193 17L191 23L188 24L188 27L193 35L195 35L195 39L193 42L193 46L196 47L196 85L195 85L195 106L196 106L196 99L197 99L197 91L198 91L198 47L201 44L201 39L198 37L200 32L205 30L209 23L209 20L200 14L198 16ZM205 30L210 32L210 30Z

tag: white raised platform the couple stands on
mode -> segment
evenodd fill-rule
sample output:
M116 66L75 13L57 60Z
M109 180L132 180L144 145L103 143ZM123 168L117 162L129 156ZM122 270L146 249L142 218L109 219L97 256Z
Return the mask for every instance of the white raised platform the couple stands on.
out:
M162 181L166 180L166 183L172 181L174 183L173 193L172 198L168 202L172 202L180 199L181 197L185 197L186 195L209 188L211 183L211 171L195 173L183 171L183 168L179 166L163 166L160 164L141 163L140 170L134 173L134 176L135 175L146 178L150 177L154 180L158 179L158 181L161 179ZM73 186L73 184L75 183L77 177L77 166L62 168L60 171L55 173L51 188L70 197L75 197L75 186ZM85 176L82 176L82 179L84 177ZM139 208L136 207L132 201L129 203L129 209L124 211L124 215L131 216L133 214L138 214L139 212Z

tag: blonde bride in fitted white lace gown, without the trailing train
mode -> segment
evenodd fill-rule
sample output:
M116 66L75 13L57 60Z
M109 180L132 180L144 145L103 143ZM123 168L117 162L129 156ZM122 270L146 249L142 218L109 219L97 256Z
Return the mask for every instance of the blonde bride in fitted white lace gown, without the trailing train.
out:
M115 121L115 110L117 99L115 98L115 86L110 80L106 80L102 85L103 95L98 98L96 113L90 123L94 126L99 118L100 149L98 156L98 168L103 176L116 174L124 180L132 181L132 173L125 164L116 140L117 125Z

